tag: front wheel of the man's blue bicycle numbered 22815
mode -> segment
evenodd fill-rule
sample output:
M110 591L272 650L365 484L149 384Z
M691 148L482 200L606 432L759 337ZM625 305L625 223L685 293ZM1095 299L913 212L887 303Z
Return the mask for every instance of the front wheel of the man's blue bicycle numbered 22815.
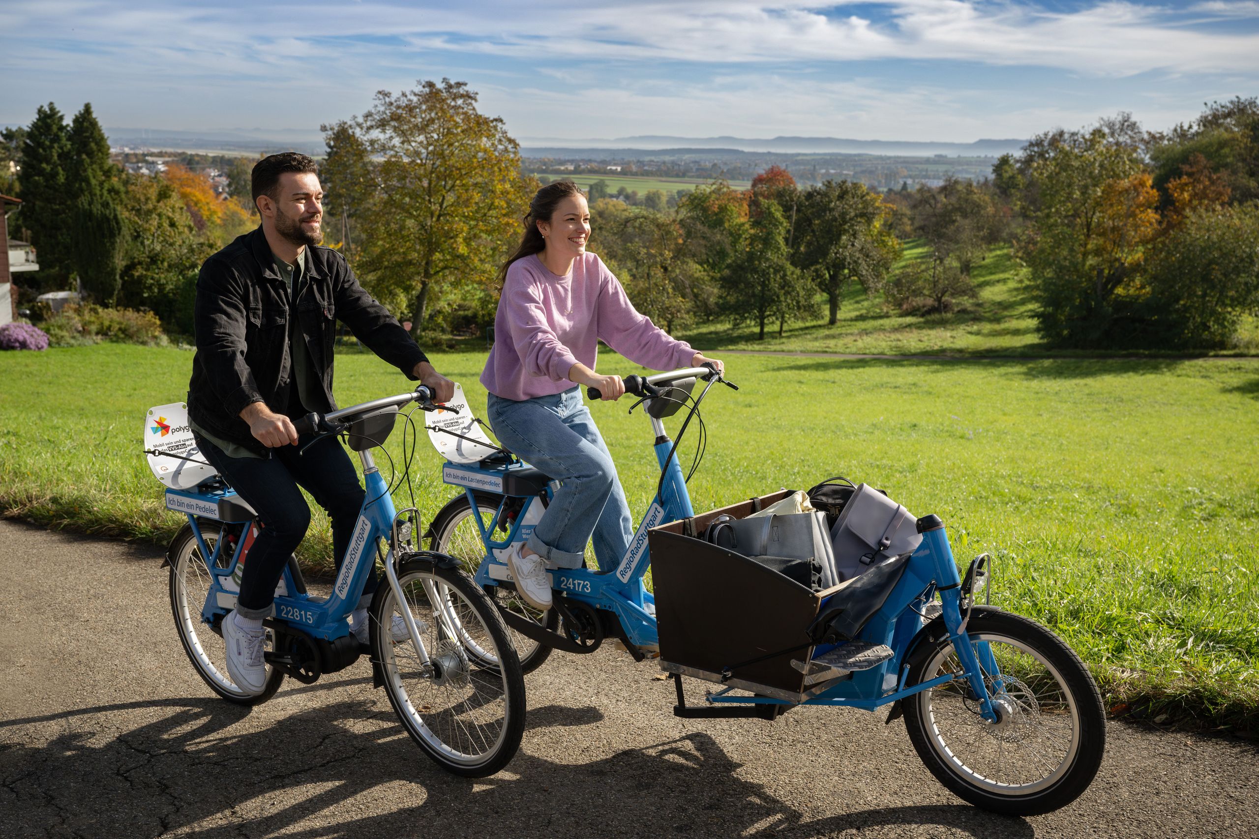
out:
M398 582L431 662L421 664L412 643L394 644L381 630L402 615L392 586L381 585L371 603L371 647L389 702L439 766L468 777L494 775L525 731L525 679L502 620L457 569L409 560Z

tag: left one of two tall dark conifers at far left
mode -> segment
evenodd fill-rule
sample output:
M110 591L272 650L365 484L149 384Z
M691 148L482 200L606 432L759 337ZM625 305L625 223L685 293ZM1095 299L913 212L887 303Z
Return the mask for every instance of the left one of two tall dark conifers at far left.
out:
M39 281L57 288L69 279L71 235L67 219L71 197L65 189L69 135L62 112L52 102L40 106L21 146L21 221L39 250Z

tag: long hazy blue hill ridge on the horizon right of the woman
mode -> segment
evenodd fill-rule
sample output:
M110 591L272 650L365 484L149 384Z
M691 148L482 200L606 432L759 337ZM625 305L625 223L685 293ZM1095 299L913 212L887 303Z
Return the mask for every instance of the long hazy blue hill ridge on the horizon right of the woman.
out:
M562 140L556 137L524 138L522 151L533 155L541 150L574 151L602 150L604 153L616 151L622 157L630 157L635 151L665 151L679 153L684 151L723 151L723 152L779 152L798 155L842 153L842 155L899 155L930 157L933 155L963 157L997 157L1005 153L1019 153L1026 140L976 140L974 142L933 142L912 140L845 140L841 137L773 137L757 140L747 137L672 137L667 135L641 135L618 137L616 140ZM558 156L558 155L538 155ZM593 156L593 155L592 155ZM604 156L604 155L599 155Z

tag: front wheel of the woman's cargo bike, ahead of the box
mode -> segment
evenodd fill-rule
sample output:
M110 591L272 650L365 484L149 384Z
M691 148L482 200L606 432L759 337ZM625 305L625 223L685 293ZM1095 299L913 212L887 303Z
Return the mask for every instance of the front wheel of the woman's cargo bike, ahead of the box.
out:
M924 642L930 647L914 655L906 684L959 669L942 623L933 634L939 640ZM918 756L954 795L993 813L1030 816L1070 804L1093 782L1105 752L1105 709L1088 668L1058 635L1021 615L976 611L967 635L990 644L1000 675L986 673L986 682L990 696L1003 702L1005 722L995 726L978 716L964 678L923 691L904 699L905 728ZM953 730L959 736L952 737ZM1044 735L1045 751L1032 752L1037 735ZM1017 755L1034 753L1035 771L1044 776L1002 780L1007 747L1012 757L1006 772L1016 771Z

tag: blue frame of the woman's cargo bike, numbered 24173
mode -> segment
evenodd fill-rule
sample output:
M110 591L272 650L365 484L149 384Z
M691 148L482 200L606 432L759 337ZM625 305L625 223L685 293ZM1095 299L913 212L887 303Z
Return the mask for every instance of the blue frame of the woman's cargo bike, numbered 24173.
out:
M643 586L643 576L651 564L647 531L695 514L676 455L667 464L665 463L672 442L665 434L663 423L651 418L651 424L656 439L653 445L656 460L665 473L661 492L638 523L630 547L617 567L598 571L584 567L548 571L551 576L553 589L572 600L613 613L621 621L626 638L640 649L646 650L656 650L660 647L653 597ZM475 491L502 496L502 501L488 523L482 522L480 514L472 517L486 548L486 555L476 572L476 582L481 586L499 585L499 582L511 580L502 557L512 542L526 540L533 532L534 525L541 518L541 508L545 506L543 497L504 494L505 474L510 469L519 468L524 468L524 464L517 462L504 467L485 467L447 462L443 465L443 481L463 488L473 511L478 508ZM544 494L549 501L554 496L554 487L548 487ZM522 507L507 528L506 538L495 540L494 533L504 523L512 498L522 498ZM967 679L982 716L995 721L996 712L985 684L983 673L996 675L998 670L988 645L985 643L973 644L966 634L961 584L944 527L928 530L923 533L922 543L909 558L904 575L883 608L866 623L859 638L854 639L891 648L894 655L890 659L867 670L854 672L851 678L845 678L803 701L774 697L772 692L763 692L763 696L753 697L730 696L731 687L710 694L708 701L724 704L846 706L874 711L880 706L904 699L961 675ZM922 684L906 687L908 657L920 640L920 634L928 623L923 611L929 603L934 603L935 594L940 597L944 625L957 650L963 673L944 674ZM826 603L826 600L822 601L822 609L825 609ZM821 655L835 647L835 644L818 645L812 653L815 657ZM982 669L981 659L983 659Z

